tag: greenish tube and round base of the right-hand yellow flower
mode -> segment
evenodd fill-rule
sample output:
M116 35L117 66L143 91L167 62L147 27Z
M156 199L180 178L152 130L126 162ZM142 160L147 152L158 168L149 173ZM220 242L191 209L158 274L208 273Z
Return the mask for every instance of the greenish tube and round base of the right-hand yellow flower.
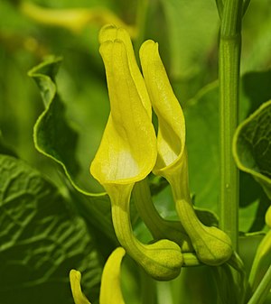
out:
M166 179L172 187L178 216L192 241L198 259L210 266L228 261L232 254L229 236L215 226L203 225L193 209L186 150L182 154L182 162L178 170L171 172Z

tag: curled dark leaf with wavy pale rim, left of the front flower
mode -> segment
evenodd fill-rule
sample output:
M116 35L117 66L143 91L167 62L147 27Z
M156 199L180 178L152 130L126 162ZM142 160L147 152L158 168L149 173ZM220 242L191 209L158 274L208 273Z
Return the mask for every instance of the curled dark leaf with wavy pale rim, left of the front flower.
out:
M55 78L60 65L61 58L50 57L29 71L29 76L40 88L45 106L34 126L35 147L42 154L61 164L75 189L85 195L95 196L97 194L86 189L78 179L80 170L88 170L88 168L79 167L77 159L79 134L67 119L66 107L57 93Z

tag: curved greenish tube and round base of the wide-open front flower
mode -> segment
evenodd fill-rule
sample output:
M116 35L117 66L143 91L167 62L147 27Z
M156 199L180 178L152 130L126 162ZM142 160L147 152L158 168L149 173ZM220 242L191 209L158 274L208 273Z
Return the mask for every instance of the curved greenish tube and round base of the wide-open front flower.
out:
M181 249L169 240L143 244L135 237L130 220L132 188L133 184L117 185L114 189L115 195L111 197L112 221L117 239L126 253L155 280L173 280L181 272L183 263Z

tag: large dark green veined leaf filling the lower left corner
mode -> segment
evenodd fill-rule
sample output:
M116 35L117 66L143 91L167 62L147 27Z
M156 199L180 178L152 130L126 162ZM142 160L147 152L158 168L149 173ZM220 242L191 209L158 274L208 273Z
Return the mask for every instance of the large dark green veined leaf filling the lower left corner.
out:
M98 299L101 266L81 217L48 180L0 155L0 299L3 304L72 303L69 272L83 272Z

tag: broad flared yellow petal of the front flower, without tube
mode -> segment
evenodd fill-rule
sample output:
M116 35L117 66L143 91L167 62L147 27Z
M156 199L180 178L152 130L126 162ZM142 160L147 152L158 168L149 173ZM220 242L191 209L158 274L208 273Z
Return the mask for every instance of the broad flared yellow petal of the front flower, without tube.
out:
M131 75L125 43L105 41L100 53L111 114L90 170L110 192L109 184L143 180L153 169L157 152L154 127L135 86L138 79Z

